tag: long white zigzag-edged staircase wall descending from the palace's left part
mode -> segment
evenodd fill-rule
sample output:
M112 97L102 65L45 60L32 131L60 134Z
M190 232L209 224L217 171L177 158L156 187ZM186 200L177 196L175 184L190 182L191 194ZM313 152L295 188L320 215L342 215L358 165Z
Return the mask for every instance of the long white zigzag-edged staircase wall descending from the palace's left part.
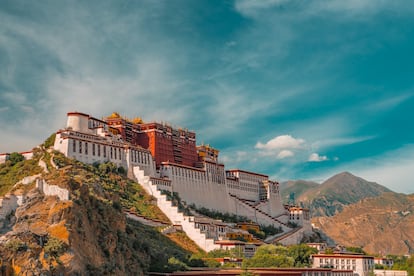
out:
M207 252L220 248L220 245L215 244L213 239L208 239L204 233L201 233L200 229L195 228L193 216L186 216L178 211L177 206L172 206L172 202L167 199L166 195L157 190L157 186L152 183L149 176L145 175L144 170L136 166L133 168L133 174L147 193L157 199L158 208L164 212L174 225L181 225L187 236L199 247Z

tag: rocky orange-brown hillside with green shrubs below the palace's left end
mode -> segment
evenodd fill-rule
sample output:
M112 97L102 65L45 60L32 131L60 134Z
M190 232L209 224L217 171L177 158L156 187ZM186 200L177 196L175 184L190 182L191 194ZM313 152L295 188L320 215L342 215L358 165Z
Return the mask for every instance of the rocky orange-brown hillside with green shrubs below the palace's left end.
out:
M40 159L46 166L38 178L54 190L67 190L69 200L45 195L34 182L9 189L0 211L5 212L5 202L13 203L10 199L18 198L16 195L23 197L24 203L0 217L3 272L145 275L174 270L186 261L190 252L155 228L126 219L124 210L128 209L168 222L152 197L126 178L125 172L111 164L89 166L40 149L35 153L36 162L30 161L30 165L37 166ZM0 170L15 165L2 164ZM39 172L39 168L31 169ZM1 187L6 178L7 173L0 175Z

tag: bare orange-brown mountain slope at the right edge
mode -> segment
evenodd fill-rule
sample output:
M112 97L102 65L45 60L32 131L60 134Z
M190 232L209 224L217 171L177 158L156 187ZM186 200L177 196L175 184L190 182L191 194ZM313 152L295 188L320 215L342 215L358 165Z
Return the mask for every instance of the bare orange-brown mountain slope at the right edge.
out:
M313 223L339 244L382 255L414 254L414 195L384 193Z

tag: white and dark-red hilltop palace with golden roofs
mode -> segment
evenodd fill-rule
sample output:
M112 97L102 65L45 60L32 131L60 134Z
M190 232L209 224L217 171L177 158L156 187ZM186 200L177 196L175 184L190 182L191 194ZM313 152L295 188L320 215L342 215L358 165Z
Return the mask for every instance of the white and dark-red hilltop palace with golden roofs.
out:
M192 131L139 118L127 120L117 113L97 119L69 112L66 127L56 133L54 148L89 164L113 162L138 181L178 193L186 204L245 216L285 233L297 232L289 222L303 233L311 231L309 210L284 206L278 182L264 174L225 170L218 161L219 151L197 146Z

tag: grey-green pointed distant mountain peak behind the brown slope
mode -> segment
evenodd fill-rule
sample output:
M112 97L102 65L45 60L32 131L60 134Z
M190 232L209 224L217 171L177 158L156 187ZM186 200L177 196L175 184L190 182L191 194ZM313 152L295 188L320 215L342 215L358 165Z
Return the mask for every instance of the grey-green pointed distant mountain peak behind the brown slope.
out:
M309 208L313 217L333 216L341 212L346 205L391 192L384 186L366 181L349 172L339 173L320 185L299 182L296 184L297 188L296 185L288 188L292 191L301 191L306 184L310 188L298 193L296 203Z

